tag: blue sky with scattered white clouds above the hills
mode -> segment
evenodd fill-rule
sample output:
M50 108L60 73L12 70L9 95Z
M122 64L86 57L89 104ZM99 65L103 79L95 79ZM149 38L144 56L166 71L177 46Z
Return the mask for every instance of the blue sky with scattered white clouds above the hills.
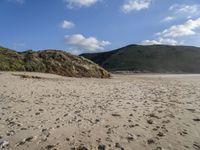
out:
M199 0L0 0L0 19L0 45L19 51L200 46Z

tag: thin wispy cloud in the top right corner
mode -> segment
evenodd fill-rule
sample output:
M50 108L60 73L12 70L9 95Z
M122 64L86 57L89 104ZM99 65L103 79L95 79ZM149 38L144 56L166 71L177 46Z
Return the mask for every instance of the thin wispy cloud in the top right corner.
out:
M200 5L186 5L186 4L175 4L169 8L170 11L174 11L175 13L183 14L199 14L200 13Z

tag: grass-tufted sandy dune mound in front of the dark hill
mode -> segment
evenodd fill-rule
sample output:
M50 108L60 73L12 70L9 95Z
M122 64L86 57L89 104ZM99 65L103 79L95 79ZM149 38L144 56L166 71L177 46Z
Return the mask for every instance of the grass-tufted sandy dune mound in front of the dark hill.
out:
M70 77L107 78L109 73L90 60L59 50L16 52L0 47L0 71L30 71Z

